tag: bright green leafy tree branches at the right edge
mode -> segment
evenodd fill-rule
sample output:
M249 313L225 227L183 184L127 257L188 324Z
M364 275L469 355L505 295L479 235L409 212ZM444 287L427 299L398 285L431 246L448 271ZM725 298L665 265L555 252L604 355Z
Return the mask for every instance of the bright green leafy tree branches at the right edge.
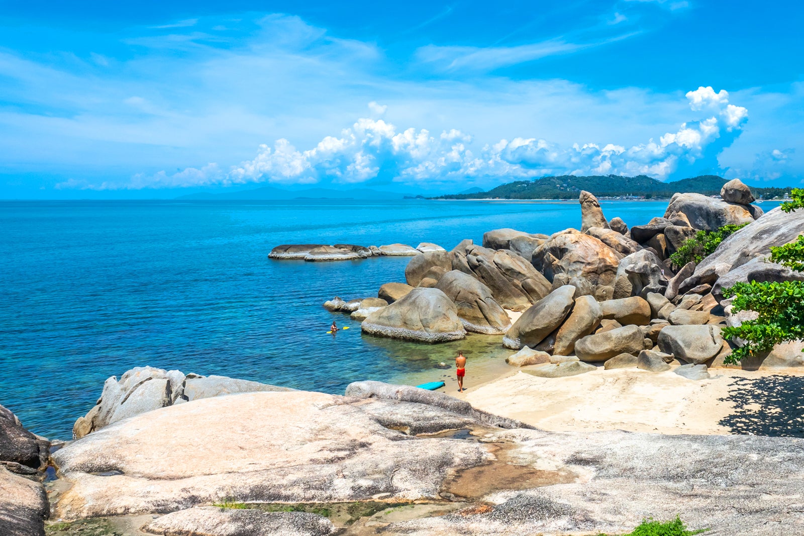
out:
M804 208L804 190L794 188L791 200L781 210ZM804 271L804 236L790 244L770 248L770 260L790 270ZM724 360L736 363L754 353L768 352L776 344L804 339L804 282L738 282L724 289L724 296L734 296L732 313L756 311L756 320L723 329L729 340L745 342Z

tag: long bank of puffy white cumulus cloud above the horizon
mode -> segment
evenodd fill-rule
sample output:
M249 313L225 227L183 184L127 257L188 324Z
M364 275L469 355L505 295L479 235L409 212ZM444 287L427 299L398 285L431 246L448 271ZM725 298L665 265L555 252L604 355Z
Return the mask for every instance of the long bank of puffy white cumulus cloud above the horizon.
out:
M515 137L481 147L461 130L432 134L398 129L379 118L361 118L337 136L299 150L281 138L260 145L253 159L223 171L215 163L174 175L136 175L127 188L176 188L233 183L313 184L384 182L432 187L473 179L514 179L560 174L650 175L658 179L720 171L717 157L740 135L748 110L728 102L728 92L700 87L687 93L699 116L647 142L624 146L575 143L560 146L543 138ZM375 115L386 106L369 103ZM783 155L781 152L779 155ZM777 157L779 158L779 157ZM65 185L67 188L68 185Z

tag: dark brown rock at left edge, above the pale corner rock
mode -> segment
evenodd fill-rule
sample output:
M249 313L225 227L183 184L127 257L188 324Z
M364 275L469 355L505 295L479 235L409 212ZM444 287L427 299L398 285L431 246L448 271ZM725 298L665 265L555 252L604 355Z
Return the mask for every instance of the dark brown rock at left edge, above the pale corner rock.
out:
M47 464L47 439L27 431L11 410L0 406L0 465L31 474Z

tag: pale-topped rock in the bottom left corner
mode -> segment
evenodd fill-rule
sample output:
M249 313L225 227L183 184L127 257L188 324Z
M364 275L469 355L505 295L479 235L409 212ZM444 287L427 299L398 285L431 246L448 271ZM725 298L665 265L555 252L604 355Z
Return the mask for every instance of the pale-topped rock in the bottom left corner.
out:
M47 496L42 484L0 464L0 534L44 536Z

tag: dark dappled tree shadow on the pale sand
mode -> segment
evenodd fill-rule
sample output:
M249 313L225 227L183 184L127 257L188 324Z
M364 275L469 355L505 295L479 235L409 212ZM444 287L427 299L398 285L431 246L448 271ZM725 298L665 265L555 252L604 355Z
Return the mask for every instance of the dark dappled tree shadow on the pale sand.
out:
M804 437L804 377L738 377L729 397L734 411L720 420L732 434Z

